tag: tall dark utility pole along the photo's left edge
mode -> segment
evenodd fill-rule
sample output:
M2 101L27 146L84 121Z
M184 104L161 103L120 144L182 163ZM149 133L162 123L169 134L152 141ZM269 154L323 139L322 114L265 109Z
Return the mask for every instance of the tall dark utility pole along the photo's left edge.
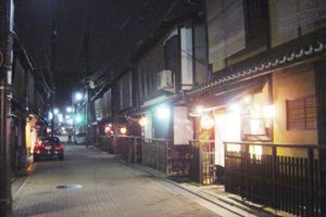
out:
M0 216L12 216L10 110L12 85L13 1L0 0Z

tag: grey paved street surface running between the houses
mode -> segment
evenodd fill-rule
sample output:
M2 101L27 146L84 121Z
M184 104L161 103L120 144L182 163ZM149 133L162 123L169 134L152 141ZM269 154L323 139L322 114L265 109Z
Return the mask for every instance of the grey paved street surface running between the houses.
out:
M168 182L120 163L113 155L66 146L65 161L45 159L14 193L14 216L240 216L201 205ZM79 189L58 189L80 184ZM214 209L213 213L210 209Z

